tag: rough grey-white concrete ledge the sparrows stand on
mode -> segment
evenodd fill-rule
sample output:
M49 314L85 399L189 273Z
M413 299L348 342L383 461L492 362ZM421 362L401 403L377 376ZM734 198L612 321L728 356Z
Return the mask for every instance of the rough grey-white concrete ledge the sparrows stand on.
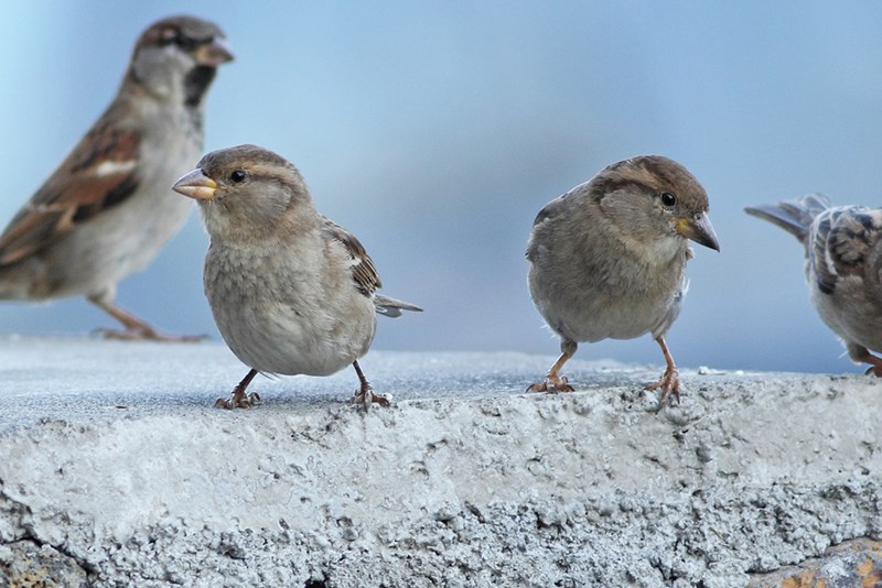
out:
M551 357L374 351L389 409L348 405L347 370L259 378L260 405L223 411L247 370L216 342L11 337L0 357L0 585L861 586L881 569L882 388L862 375L686 369L682 403L655 414L657 366L573 360L578 391L544 395L524 390ZM825 555L854 541L860 557Z

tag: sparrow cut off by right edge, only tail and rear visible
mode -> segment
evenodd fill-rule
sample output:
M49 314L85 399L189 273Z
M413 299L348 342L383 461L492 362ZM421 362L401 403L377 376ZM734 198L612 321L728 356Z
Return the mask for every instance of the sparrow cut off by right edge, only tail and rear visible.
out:
M882 208L833 207L817 194L752 206L749 215L786 230L805 248L811 304L867 373L882 377Z

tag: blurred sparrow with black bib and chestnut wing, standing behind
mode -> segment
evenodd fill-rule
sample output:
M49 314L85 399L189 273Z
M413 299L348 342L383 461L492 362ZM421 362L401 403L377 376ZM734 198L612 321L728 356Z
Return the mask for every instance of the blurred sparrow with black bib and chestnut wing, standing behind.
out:
M107 336L198 339L160 335L114 297L190 215L169 185L202 153L205 94L232 58L220 29L192 17L141 34L114 101L0 235L0 298L84 295L122 323Z

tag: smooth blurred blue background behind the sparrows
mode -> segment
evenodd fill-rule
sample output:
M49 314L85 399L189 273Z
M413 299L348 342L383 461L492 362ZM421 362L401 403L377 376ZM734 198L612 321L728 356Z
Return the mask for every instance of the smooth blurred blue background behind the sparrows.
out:
M880 205L882 3L8 3L0 19L0 225L117 90L138 34L189 12L236 61L207 102L206 151L244 142L300 167L363 241L384 292L375 349L556 355L526 286L536 213L607 163L660 153L704 185L722 252L696 247L668 342L684 367L853 372L808 302L803 251L742 208L828 194ZM191 162L190 167L196 162ZM183 172L183 171L182 171ZM196 214L118 302L219 340ZM0 333L116 326L83 300L0 303ZM663 364L648 337L581 359Z

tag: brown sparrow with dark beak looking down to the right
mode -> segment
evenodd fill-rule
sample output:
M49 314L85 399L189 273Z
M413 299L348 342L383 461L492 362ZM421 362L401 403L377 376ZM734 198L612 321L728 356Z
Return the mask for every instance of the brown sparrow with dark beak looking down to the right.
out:
M560 336L561 356L528 390L572 391L559 375L580 341L633 339L650 333L667 369L659 409L679 401L677 367L665 334L686 294L688 240L720 250L708 196L679 163L659 155L606 166L539 211L527 244L533 301Z

